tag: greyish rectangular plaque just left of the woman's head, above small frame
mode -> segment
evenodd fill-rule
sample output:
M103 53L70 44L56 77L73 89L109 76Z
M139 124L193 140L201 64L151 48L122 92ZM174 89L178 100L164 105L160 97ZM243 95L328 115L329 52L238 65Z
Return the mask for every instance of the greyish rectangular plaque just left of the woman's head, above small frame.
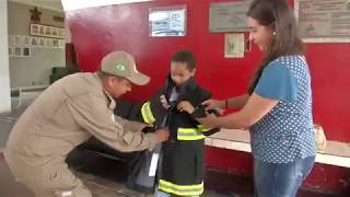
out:
M250 0L210 3L210 32L248 32L246 12Z

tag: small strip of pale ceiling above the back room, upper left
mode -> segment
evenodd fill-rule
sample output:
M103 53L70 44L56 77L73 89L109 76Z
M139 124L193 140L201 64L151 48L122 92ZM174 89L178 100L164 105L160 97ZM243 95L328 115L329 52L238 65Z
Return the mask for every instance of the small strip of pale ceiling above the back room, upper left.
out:
M9 1L20 2L24 4L30 4L33 7L39 7L44 9L55 10L58 12L63 12L61 0L9 0Z

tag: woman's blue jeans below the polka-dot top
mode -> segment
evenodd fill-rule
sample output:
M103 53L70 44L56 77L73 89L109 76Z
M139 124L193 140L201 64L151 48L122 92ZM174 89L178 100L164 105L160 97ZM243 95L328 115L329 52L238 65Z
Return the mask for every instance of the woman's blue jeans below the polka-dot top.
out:
M298 188L310 174L315 157L290 163L254 160L255 197L295 197Z

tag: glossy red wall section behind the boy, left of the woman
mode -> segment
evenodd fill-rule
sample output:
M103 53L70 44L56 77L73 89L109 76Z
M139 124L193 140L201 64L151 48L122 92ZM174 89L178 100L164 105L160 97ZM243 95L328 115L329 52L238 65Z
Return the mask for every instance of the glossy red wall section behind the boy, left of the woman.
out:
M187 35L149 37L149 8L172 4L188 5ZM156 92L164 83L172 55L184 48L195 53L197 79L215 97L244 93L260 53L254 47L244 59L224 59L224 35L209 33L208 9L209 1L206 0L162 0L75 11L68 13L68 20L84 71L96 70L103 55L115 49L129 51L136 57L139 70L148 73L152 81L147 88L135 88L130 95L133 100L147 99Z

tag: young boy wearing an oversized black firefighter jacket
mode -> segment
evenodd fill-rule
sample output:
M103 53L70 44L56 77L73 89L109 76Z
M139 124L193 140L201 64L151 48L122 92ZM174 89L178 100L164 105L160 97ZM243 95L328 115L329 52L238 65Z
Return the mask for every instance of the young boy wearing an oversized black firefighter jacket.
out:
M219 129L203 128L195 117L206 116L201 103L210 93L197 85L196 60L187 50L171 60L171 73L159 94L141 107L145 123L168 127L162 144L155 196L199 196L203 193L205 138Z

